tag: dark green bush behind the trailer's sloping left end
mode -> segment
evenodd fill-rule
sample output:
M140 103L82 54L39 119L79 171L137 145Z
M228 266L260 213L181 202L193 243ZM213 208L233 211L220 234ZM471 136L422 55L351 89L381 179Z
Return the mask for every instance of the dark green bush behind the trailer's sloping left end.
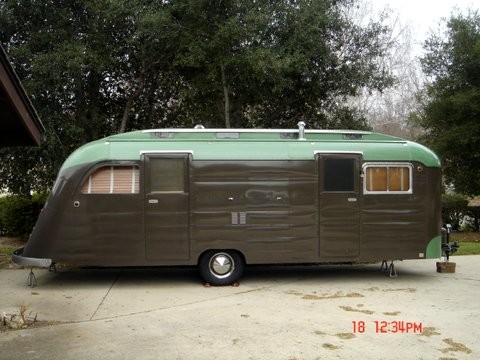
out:
M0 197L0 232L7 236L28 236L37 221L46 194Z

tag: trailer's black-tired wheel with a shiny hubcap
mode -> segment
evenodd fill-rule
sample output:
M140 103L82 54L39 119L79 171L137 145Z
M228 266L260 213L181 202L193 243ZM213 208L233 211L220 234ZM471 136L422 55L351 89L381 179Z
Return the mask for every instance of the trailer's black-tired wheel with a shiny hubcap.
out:
M230 285L243 274L242 256L236 251L210 250L198 262L200 275L206 283L215 286Z

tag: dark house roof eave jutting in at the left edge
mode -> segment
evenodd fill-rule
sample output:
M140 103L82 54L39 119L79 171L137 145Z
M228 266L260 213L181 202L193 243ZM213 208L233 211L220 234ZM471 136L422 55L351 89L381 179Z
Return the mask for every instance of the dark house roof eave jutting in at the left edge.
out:
M45 128L0 45L0 146L38 146Z

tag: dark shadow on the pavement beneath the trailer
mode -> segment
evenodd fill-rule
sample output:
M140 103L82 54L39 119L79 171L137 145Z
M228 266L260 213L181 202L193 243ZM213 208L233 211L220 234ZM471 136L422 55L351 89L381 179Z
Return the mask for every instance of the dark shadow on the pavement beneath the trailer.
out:
M166 286L203 285L196 267L144 267L144 268L71 268L57 272L34 270L38 286L44 289L64 287L104 288L112 282L122 285ZM348 282L348 281L430 281L435 271L397 267L398 276L390 278L380 270L378 264L329 264L329 265L251 265L247 266L240 281L241 284L252 282ZM26 272L26 274L28 274Z

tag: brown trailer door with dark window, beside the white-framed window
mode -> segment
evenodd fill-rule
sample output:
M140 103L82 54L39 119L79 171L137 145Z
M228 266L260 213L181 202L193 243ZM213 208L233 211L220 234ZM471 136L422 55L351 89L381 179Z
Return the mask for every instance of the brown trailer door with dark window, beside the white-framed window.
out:
M317 154L319 256L350 260L360 249L360 154Z

